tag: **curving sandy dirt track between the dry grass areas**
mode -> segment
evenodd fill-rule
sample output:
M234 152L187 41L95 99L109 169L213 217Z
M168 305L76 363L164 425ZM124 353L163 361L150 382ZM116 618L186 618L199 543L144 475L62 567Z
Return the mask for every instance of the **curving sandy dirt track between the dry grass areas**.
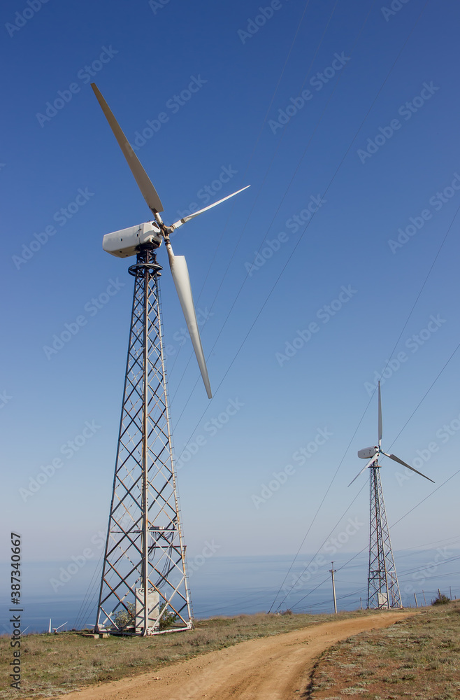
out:
M408 610L382 612L252 639L179 661L161 671L87 687L64 697L65 700L301 699L313 665L327 647L414 614Z

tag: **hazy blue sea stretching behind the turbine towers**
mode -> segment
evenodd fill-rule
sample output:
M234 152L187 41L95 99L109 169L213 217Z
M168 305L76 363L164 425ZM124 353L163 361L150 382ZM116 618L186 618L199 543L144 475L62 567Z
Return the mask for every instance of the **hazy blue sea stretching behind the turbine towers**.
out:
M329 557L328 557L329 559ZM331 561L326 556L211 556L190 571L194 617L251 615L254 612L333 612ZM405 607L429 604L438 589L460 598L460 549L436 547L395 552ZM52 628L94 626L101 576L100 562L86 561L71 580L56 588L66 562L24 565L21 622L24 633ZM333 569L338 610L366 608L367 552L338 552ZM2 580L9 573L0 564ZM54 582L54 584L53 584ZM5 587L3 587L5 590ZM414 595L415 594L415 595ZM13 606L13 608L17 606ZM11 633L11 605L0 603L0 633ZM51 623L50 623L51 620Z

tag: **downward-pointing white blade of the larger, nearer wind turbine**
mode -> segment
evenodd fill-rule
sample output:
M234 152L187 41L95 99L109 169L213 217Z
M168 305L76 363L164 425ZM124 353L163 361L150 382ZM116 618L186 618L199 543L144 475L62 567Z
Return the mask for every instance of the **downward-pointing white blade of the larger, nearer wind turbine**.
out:
M171 267L175 289L178 293L180 306L184 312L185 322L187 323L187 328L189 329L189 334L192 339L201 377L203 377L208 398L213 398L208 377L208 369L206 367L206 360L203 353L203 346L201 345L198 323L196 321L196 313L192 297L192 286L190 285L187 262L185 262L183 255L174 255L173 248L171 248L171 243L169 243L169 241L166 241L166 248L168 251L169 266Z

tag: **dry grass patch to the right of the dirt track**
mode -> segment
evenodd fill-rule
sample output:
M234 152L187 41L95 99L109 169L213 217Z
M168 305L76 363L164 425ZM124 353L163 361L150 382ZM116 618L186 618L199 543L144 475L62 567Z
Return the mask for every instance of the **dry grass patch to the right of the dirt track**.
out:
M460 605L425 609L388 629L361 633L324 652L312 700L460 697Z

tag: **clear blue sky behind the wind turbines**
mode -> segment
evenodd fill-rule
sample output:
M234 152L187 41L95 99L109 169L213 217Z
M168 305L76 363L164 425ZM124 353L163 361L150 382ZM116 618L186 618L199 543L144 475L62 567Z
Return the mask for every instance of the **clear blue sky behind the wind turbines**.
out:
M214 201L251 185L173 239L210 402L161 277L189 551L294 554L318 508L305 552L349 517L367 522L366 476L347 484L376 440L370 386L388 360L383 447L436 481L382 462L389 523L404 518L394 548L458 525L459 477L435 489L460 442L459 355L445 366L459 343L460 8L393 5L279 0L264 17L268 3L242 0L3 3L2 519L29 561L70 561L106 528L132 279L101 239L150 218L90 80L138 144L166 222L206 204L206 187ZM163 248L158 259L166 268ZM359 528L345 550L367 538Z

